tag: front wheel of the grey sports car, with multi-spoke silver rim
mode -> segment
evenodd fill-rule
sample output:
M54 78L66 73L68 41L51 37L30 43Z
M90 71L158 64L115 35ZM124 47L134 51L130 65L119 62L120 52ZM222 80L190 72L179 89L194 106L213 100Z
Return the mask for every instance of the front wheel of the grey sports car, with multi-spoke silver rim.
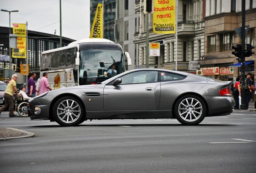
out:
M83 104L75 97L62 97L54 104L52 115L59 125L76 126L84 120Z

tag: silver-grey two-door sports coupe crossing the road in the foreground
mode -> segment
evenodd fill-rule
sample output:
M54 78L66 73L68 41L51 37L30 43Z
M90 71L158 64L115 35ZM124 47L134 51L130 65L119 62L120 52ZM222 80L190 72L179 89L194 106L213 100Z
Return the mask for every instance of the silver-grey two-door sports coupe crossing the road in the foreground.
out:
M93 119L177 119L197 125L204 117L229 115L235 106L231 81L187 72L136 69L102 83L56 89L29 100L32 120L75 126Z

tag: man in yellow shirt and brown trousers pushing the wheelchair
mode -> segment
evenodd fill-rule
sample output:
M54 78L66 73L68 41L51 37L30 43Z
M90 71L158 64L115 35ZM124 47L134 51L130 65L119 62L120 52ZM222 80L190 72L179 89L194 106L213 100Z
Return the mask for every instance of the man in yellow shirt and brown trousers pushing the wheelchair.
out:
M12 74L12 80L8 83L6 90L4 92L4 106L0 109L0 114L2 111L4 111L7 107L9 107L9 117L15 117L13 113L13 95L16 93L16 95L21 95L17 93L17 87L16 87L16 80L17 80L17 74Z

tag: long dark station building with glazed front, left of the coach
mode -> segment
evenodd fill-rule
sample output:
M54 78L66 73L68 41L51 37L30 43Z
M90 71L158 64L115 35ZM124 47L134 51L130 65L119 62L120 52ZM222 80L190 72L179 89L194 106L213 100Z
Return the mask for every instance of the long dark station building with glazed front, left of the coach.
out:
M41 53L45 50L50 50L60 47L60 38L53 34L36 32L28 30L27 39L27 63L29 64L29 72L37 72L39 77ZM11 28L12 34L12 28ZM62 37L62 46L67 46L73 42L70 38ZM9 27L0 27L0 54L9 56ZM16 68L14 71L18 75L17 83L23 83L26 76L20 76L20 64L25 64L25 58L12 58L11 64ZM0 80L6 80L9 77L9 58L0 59Z

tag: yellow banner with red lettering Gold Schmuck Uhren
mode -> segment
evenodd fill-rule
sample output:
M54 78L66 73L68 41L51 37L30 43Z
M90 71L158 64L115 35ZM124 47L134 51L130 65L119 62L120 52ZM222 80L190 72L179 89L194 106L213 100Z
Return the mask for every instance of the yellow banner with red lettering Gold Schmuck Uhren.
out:
M175 0L155 0L153 32L175 34Z

